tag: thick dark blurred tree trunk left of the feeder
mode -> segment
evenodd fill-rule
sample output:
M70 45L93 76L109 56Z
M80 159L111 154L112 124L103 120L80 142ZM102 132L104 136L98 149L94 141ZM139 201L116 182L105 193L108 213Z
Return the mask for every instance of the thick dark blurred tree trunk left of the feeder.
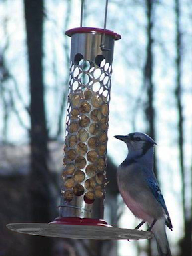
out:
M31 93L31 173L29 174L31 221L46 223L51 220L49 211L51 196L42 67L43 0L24 0L24 5ZM30 241L31 256L51 255L51 243L48 238L31 237Z

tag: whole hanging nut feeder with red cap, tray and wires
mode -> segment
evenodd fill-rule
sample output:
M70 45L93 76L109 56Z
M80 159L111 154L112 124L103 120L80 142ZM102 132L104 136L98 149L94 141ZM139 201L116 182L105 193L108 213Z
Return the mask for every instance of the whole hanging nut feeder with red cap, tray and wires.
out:
M83 3L83 1L82 1ZM70 29L71 57L60 217L15 223L19 233L75 239L144 239L151 232L120 229L103 220L113 49L121 36L93 27Z

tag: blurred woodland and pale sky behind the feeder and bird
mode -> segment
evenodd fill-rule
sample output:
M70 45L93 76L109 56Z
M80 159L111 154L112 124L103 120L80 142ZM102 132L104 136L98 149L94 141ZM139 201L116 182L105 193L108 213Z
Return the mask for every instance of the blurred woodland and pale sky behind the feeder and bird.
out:
M105 1L86 1L83 26L103 27ZM12 233L15 222L58 216L70 38L80 0L0 0L0 255L147 256L153 241L80 241ZM145 132L158 144L155 173L173 222L173 256L192 255L192 2L109 0L115 42L105 219L138 223L117 189L127 149L113 138Z

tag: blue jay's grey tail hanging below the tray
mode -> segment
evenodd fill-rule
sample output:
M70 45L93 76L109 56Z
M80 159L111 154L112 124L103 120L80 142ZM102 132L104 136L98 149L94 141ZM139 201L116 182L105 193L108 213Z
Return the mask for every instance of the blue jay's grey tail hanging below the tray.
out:
M165 219L159 219L153 226L152 232L157 241L159 256L171 256L171 250L165 231Z

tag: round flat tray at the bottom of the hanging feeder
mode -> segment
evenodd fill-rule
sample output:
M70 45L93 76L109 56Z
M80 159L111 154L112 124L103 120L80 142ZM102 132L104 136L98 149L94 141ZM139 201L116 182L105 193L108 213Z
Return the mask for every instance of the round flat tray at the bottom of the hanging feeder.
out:
M63 237L72 239L97 239L97 240L120 240L120 239L150 239L153 233L135 229L122 229L105 226L88 225L63 225L47 223L11 223L8 229L28 235L42 235L45 237Z

